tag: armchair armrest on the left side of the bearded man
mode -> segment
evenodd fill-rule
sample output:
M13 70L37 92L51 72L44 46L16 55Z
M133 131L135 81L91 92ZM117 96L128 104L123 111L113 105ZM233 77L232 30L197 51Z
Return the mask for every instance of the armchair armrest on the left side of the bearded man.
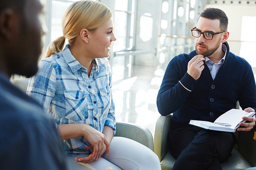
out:
M155 130L155 153L159 157L159 160L162 161L166 153L169 151L168 148L168 132L170 130L170 118L171 114L167 116L159 116L156 123Z

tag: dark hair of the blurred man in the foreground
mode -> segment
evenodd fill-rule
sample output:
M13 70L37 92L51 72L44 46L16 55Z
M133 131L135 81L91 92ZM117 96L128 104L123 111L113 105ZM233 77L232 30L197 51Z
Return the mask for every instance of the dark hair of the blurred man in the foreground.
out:
M27 0L0 0L0 12L6 8L12 8L22 13Z

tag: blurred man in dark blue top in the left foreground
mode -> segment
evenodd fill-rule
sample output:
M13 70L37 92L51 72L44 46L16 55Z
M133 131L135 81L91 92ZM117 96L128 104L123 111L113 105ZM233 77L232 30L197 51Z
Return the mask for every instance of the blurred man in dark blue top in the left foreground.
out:
M9 81L37 72L41 10L39 0L0 1L0 169L66 169L54 123Z

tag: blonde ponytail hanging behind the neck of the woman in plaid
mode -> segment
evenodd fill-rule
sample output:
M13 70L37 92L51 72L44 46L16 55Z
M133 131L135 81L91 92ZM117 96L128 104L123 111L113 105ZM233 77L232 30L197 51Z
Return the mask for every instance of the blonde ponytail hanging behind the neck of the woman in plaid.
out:
M46 51L46 55L44 58L50 57L53 54L57 54L63 50L65 44L65 37L61 36L57 38L55 41L51 42Z

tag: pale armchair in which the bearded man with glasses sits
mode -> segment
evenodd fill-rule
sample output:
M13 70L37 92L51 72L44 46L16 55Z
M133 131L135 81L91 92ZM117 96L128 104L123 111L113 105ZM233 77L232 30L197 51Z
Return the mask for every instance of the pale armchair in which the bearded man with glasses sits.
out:
M168 132L170 130L170 118L172 115L159 116L156 123L154 145L162 170L172 169L175 158L168 148ZM256 128L250 132L236 132L239 143L233 148L230 156L221 164L223 170L238 170L256 166Z

